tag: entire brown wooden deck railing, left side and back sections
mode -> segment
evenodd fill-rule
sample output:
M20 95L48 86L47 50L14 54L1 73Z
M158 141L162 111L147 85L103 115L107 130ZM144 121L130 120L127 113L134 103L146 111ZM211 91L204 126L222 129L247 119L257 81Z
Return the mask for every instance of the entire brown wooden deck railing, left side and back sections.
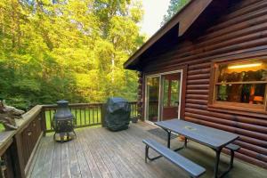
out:
M130 102L131 117L137 117L137 103ZM42 135L53 132L56 105L37 105L16 120L17 130L0 133L0 178L27 177ZM102 125L103 103L70 104L76 127Z

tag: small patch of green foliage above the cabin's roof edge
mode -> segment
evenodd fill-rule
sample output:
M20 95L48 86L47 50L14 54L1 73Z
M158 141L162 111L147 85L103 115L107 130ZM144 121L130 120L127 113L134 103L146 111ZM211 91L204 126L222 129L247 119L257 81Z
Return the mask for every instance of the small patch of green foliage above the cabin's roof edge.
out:
M179 12L182 9L182 7L188 4L189 2L190 0L171 0L167 13L164 16L161 25L164 25L168 20L170 20L174 16L174 14Z

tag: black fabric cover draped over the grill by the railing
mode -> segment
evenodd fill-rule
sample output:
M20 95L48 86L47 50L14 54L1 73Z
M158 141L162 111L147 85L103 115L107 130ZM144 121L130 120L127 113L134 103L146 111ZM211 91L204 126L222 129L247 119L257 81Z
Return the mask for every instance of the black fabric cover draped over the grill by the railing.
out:
M121 131L128 128L131 107L123 98L109 98L106 103L105 125L111 131Z

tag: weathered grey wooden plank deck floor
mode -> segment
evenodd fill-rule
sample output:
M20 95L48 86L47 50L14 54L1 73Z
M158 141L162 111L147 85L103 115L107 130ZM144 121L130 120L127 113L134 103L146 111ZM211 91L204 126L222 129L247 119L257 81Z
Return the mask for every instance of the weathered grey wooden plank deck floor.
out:
M44 137L36 152L29 177L189 177L165 158L144 162L142 139L153 138L165 142L147 130L154 126L142 123L132 124L128 130L111 133L105 128L77 129L77 139L66 143L53 142L53 135ZM182 144L172 140L172 146ZM188 149L181 154L206 167L202 177L212 177L214 151L195 142L189 142ZM156 154L152 152L152 154ZM222 156L221 168L226 168L228 156ZM264 177L266 170L235 160L234 168L225 177Z

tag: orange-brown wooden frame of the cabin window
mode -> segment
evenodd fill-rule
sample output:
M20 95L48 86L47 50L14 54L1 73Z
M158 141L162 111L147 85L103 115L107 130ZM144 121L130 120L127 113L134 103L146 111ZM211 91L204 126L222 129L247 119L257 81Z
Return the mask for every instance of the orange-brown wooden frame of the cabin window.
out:
M224 60L224 61L212 61L211 64L211 77L210 77L210 92L208 97L208 108L209 109L233 109L257 113L267 113L267 81L253 81L253 82L232 82L232 84L265 84L265 95L262 105L248 104L248 103L239 103L239 102L229 102L229 101L216 101L216 85L222 84L231 84L229 83L218 83L219 77L219 65L222 64L234 64L234 63L247 63L249 61L257 62L266 58L257 58L257 59L242 59L242 60Z

